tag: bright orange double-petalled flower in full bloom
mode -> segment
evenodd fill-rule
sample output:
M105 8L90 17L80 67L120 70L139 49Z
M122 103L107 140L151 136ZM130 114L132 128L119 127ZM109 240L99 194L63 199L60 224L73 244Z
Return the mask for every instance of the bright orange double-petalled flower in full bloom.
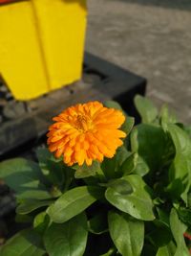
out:
M78 104L53 118L55 123L47 134L49 150L55 157L63 155L64 162L92 165L93 160L112 158L123 144L126 133L119 130L124 123L123 113L104 107L99 102Z

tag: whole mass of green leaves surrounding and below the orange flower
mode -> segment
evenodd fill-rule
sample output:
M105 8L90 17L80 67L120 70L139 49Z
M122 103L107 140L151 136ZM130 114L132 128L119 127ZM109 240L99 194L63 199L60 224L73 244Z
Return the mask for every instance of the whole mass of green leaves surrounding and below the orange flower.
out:
M141 96L135 105L142 122L134 126L127 116L123 146L101 164L68 167L47 149L36 152L38 163L0 163L0 178L15 191L17 220L32 220L1 256L189 255L190 128L166 106L158 111Z

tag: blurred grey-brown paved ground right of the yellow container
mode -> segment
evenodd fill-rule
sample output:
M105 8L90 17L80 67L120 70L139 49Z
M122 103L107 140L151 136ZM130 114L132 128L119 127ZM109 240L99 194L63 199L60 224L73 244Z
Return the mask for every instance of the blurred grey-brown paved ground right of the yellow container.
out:
M89 0L88 8L86 49L146 78L146 96L190 123L191 1Z

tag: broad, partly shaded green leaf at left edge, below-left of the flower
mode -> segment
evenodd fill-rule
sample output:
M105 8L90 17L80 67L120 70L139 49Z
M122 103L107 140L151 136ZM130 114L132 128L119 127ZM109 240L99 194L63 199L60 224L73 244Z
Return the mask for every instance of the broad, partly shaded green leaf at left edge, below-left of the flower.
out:
M0 178L16 192L17 198L52 198L46 190L39 166L24 158L14 158L0 163Z

